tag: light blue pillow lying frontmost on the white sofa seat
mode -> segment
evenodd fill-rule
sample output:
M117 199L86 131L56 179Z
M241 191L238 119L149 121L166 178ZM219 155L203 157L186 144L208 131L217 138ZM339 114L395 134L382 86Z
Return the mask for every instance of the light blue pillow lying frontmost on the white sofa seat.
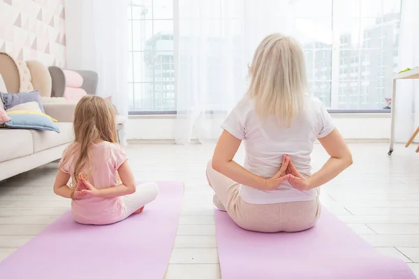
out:
M59 133L59 128L47 116L41 114L10 114L12 119L4 123L7 128L53 130Z

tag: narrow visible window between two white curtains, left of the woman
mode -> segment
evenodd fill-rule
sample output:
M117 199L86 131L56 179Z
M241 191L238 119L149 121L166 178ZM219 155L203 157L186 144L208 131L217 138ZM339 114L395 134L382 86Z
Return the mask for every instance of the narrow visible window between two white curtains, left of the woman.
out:
M129 111L175 112L173 1L130 1L128 25Z

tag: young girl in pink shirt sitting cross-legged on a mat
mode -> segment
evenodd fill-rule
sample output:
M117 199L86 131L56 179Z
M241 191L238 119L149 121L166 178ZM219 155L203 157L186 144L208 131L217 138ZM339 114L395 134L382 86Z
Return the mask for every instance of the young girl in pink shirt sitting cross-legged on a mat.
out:
M106 100L85 96L79 101L74 112L74 136L59 163L54 193L72 199L76 222L116 223L140 213L156 198L156 183L135 187L126 154L117 144L115 112ZM67 185L70 177L73 187Z

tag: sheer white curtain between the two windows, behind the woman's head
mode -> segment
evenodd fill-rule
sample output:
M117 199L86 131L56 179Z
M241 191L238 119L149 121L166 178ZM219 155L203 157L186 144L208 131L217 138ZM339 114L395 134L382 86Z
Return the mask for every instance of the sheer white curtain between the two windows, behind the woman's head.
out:
M319 36L313 28L305 28L304 22L301 28L298 26L295 11L310 8L313 1L178 1L179 10L175 10L179 13L179 26L175 27L175 33L179 32L179 41L175 42L178 144L219 137L221 122L246 92L247 66L265 36L279 32L300 40L312 40L311 36L331 40L330 30Z

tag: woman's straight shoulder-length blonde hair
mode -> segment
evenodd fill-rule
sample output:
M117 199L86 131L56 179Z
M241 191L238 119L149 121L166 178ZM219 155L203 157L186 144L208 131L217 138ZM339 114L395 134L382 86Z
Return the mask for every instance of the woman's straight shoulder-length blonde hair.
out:
M294 38L279 33L258 45L249 66L248 96L262 119L274 116L289 127L302 111L307 93L304 53Z

